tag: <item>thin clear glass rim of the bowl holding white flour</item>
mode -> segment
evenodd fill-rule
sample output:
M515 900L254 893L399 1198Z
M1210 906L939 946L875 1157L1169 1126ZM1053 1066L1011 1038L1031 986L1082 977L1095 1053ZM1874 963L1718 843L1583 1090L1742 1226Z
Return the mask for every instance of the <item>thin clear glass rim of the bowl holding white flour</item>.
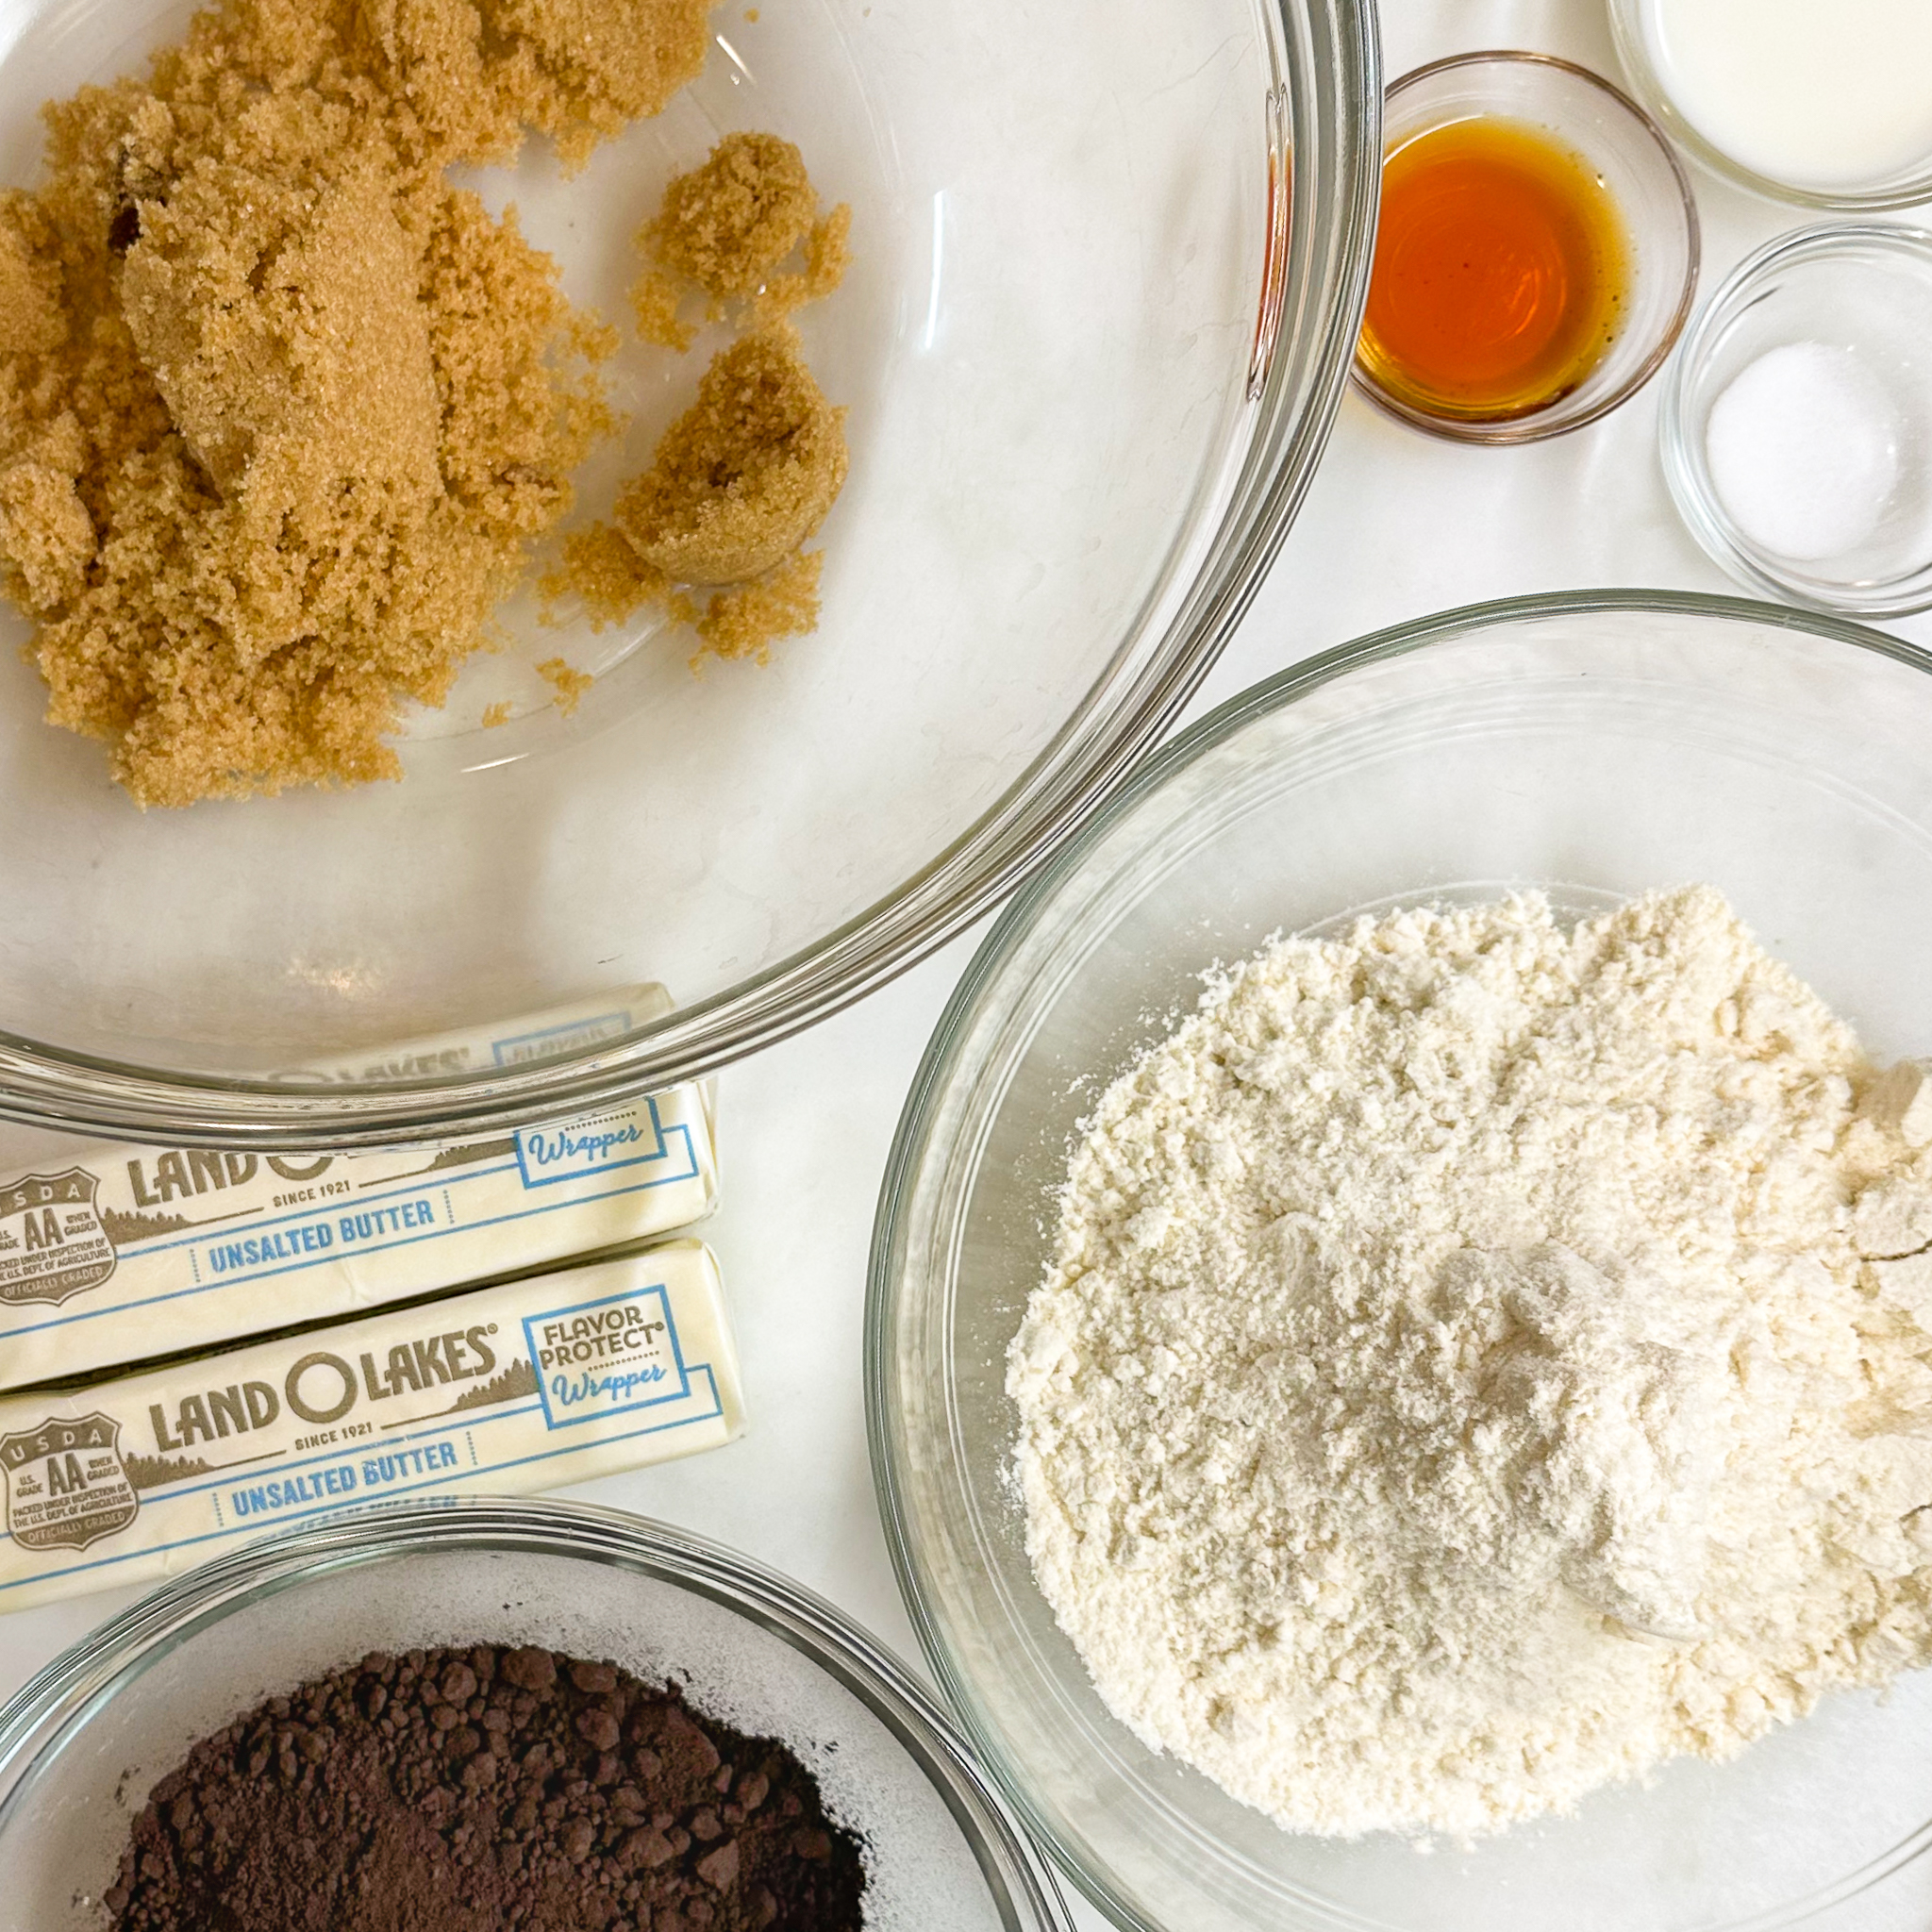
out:
M898 1464L898 1399L895 1393L898 1312L900 1304L910 1300L910 1294L900 1291L900 1283L910 1279L910 1271L900 1269L896 1262L904 1246L908 1209L920 1194L922 1177L929 1167L927 1155L935 1138L939 1105L968 1072L960 1059L962 1041L983 997L999 981L1012 954L1032 937L1061 887L1078 873L1088 856L1169 779L1208 757L1256 721L1289 709L1298 699L1354 670L1410 657L1432 645L1451 645L1480 632L1515 628L1551 616L1598 612L1716 616L1768 624L1776 630L1830 638L1835 643L1889 657L1911 670L1932 674L1932 651L1832 612L1708 591L1669 589L1540 591L1459 605L1370 632L1291 665L1287 670L1273 672L1236 692L1146 759L1134 777L1014 895L952 989L952 997L920 1055L918 1072L893 1130L866 1264L864 1321L866 1445L873 1490L879 1497L879 1522L893 1557L893 1575L898 1580L906 1615L918 1633L925 1665L980 1764L985 1766L1007 1803L1026 1824L1034 1843L1045 1847L1063 1876L1099 1911L1130 1932L1173 1932L1173 1926L1148 1918L1119 1891L1111 1874L1095 1870L1094 1862L1066 1843L1053 1818L1041 1808L1034 1795L1032 1772L1022 1760L1009 1756L1005 1737L985 1718L972 1677L954 1663L951 1636L945 1619L935 1613L929 1602L925 1571L910 1528ZM931 1289L922 1293L929 1294ZM951 1275L939 1285L939 1293L951 1300ZM1822 1909L1828 1901L1816 1903Z

